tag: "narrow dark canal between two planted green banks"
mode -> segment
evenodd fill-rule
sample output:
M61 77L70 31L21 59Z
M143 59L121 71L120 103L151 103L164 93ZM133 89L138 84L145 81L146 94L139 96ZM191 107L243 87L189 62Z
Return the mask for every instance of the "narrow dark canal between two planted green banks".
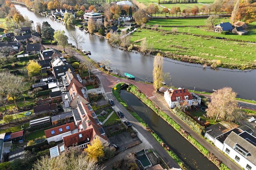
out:
M217 166L204 157L190 142L135 95L126 90L121 90L120 95L191 170L218 169Z

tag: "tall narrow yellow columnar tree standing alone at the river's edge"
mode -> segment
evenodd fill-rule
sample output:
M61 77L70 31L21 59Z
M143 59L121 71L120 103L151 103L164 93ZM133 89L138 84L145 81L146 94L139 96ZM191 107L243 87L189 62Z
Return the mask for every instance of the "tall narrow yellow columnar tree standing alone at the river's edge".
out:
M163 64L164 60L163 57L158 53L154 58L154 65L153 65L153 81L154 81L154 88L158 91L164 81L164 72L163 72Z

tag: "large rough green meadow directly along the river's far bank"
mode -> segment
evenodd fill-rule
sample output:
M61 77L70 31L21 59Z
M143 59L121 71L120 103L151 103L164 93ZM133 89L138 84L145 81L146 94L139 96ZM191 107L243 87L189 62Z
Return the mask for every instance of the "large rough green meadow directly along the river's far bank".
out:
M132 34L131 42L146 38L154 49L166 53L171 58L174 58L173 55L178 55L184 60L194 60L200 63L212 63L220 60L221 66L240 69L254 68L256 64L255 44L183 33L169 34L147 29L138 30L139 32L136 31ZM140 45L140 42L135 44Z

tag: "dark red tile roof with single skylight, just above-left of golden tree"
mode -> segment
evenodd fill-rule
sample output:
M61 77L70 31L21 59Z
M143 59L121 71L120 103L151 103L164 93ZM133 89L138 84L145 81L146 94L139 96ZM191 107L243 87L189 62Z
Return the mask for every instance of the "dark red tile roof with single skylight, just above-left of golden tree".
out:
M77 143L87 141L87 138L89 138L89 140L91 141L93 138L92 131L93 131L92 129L87 129L87 130L83 130L75 134L63 137L65 147L69 147ZM82 134L81 138L79 137L79 134Z

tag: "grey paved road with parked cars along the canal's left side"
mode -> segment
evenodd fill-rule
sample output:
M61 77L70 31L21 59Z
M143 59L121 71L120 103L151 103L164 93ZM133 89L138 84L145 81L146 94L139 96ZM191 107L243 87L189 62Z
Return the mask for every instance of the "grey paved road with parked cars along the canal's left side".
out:
M127 110L120 104L114 95L108 95L108 98L111 98L115 105L113 106L115 111L121 110L124 114L124 118L122 120L129 120L132 123L133 128L137 129L137 131L142 134L144 140L150 143L151 146L158 152L158 154L162 157L162 159L166 162L166 164L170 168L180 168L177 163L172 159L172 157L162 148L162 146L155 140L155 138L150 134L148 130L146 130ZM143 141L143 140L142 140Z

